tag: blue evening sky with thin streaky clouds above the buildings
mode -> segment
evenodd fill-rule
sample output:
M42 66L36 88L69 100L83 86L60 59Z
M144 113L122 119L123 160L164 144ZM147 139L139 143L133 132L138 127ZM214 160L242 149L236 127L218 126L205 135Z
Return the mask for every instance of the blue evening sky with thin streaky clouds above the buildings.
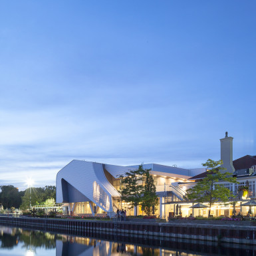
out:
M255 1L1 1L0 184L73 159L256 155Z

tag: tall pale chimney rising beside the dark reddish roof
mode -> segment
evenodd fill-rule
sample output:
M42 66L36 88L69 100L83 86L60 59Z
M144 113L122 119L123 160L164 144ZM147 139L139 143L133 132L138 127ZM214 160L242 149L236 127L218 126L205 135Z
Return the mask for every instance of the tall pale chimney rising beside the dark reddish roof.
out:
M226 168L226 170L222 170L221 172L235 172L235 168L233 166L233 138L227 136L227 132L225 133L225 138L220 139L221 141L221 160L223 161L223 165L221 167Z

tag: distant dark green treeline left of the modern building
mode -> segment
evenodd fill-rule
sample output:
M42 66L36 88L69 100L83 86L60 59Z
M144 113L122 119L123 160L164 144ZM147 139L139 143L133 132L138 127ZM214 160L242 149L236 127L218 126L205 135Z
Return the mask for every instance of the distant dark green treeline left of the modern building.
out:
M20 191L13 185L0 186L0 203L4 209L11 207L27 209L29 207L29 188ZM44 204L47 199L55 199L56 187L31 188L31 205Z

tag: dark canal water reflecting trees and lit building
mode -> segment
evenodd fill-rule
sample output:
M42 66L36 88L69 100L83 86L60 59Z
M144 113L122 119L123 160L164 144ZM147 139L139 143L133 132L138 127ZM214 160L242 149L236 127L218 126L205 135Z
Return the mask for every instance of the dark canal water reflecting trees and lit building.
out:
M172 239L150 240L84 233L70 235L0 226L0 256L256 256L247 245Z

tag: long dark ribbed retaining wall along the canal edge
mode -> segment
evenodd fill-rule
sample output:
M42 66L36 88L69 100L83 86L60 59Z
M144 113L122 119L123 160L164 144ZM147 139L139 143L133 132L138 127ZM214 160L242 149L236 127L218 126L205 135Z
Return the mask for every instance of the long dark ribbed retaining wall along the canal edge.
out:
M96 233L120 234L133 237L153 237L171 240L172 238L198 239L203 241L221 241L226 243L243 243L256 245L256 227L199 224L199 223L147 223L93 221L80 219L40 219L0 217L0 224L15 227L27 227L55 232L69 232L76 235L82 231Z

